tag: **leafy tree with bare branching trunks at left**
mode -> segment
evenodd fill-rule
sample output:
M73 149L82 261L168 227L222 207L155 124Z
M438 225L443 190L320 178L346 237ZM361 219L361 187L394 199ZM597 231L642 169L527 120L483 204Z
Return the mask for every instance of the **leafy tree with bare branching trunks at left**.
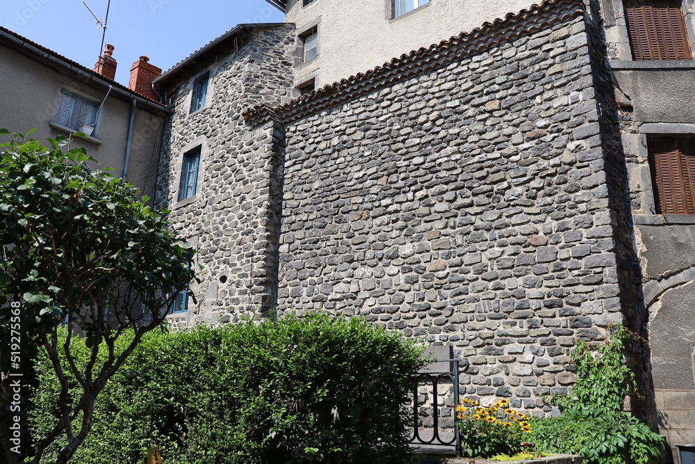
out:
M60 464L90 433L108 378L188 289L194 271L186 264L195 252L167 229L167 211L136 200L131 184L95 168L83 148L71 149L65 137L49 143L14 134L0 145L0 410L10 422L10 374L26 374L41 347L60 385L58 408L35 448L22 452L38 463L60 441ZM76 337L89 350L85 362L75 360ZM17 348L21 363L11 358ZM23 462L7 425L0 426L3 457Z

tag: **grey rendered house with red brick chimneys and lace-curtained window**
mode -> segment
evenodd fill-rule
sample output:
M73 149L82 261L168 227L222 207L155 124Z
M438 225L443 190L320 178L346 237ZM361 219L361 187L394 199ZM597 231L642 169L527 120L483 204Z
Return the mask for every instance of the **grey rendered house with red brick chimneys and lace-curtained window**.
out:
M168 113L149 85L149 93L142 94L113 81L117 62L113 47L106 47L91 70L0 28L0 127L37 129L32 137L38 141L82 131L88 137L75 138L73 145L154 198ZM147 57L133 68L142 63L149 64Z

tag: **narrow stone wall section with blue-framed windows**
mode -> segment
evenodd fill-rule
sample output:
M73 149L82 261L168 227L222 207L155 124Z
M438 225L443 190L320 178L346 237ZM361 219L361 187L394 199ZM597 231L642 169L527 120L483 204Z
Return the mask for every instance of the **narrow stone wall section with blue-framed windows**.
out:
M254 29L240 48L215 63L202 63L176 88L175 113L165 134L159 166L159 207L198 250L202 282L197 305L172 316L174 325L234 321L240 312L263 312L275 301L277 182L281 134L272 124L250 128L242 112L261 102L288 99L295 53L292 25ZM210 70L206 105L189 114L193 80ZM168 83L170 87L172 83ZM177 202L183 152L202 146L199 188ZM272 204L272 205L271 205Z

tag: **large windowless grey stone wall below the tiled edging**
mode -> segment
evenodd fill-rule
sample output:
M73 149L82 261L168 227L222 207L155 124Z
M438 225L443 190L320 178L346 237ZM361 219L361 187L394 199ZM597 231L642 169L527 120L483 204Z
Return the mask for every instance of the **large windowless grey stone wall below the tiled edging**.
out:
M275 111L278 309L453 344L472 364L466 397L539 415L575 379L574 339L603 337L621 311L582 2L475 40L452 63L419 51L443 63L425 72L344 81L355 96L320 110L322 93Z

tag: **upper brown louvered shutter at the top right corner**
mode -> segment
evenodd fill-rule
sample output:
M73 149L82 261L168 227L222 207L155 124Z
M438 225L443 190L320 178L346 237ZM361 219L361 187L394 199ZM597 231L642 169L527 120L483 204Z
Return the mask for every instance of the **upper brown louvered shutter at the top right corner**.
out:
M624 0L635 60L692 60L678 0Z

